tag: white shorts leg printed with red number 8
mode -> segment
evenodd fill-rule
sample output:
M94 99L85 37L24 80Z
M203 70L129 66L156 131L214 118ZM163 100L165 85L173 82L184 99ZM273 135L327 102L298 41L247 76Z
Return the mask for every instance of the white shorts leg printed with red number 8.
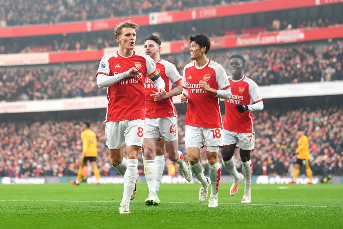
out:
M126 120L124 128L124 138L126 147L129 146L139 146L143 145L144 138L144 120L134 119ZM127 150L128 151L128 150Z

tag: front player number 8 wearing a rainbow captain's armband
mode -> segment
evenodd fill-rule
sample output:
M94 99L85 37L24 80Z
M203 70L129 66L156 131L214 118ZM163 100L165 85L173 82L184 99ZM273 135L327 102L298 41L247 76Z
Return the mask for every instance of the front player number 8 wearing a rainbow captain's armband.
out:
M130 199L135 195L133 190L138 178L138 155L143 143L145 125L146 76L154 82L156 91L162 98L167 95L155 62L149 56L133 50L138 29L138 24L131 20L117 25L115 37L119 50L103 56L96 74L99 88L108 87L104 122L111 164L124 175L120 214L130 213ZM123 158L125 143L127 159Z

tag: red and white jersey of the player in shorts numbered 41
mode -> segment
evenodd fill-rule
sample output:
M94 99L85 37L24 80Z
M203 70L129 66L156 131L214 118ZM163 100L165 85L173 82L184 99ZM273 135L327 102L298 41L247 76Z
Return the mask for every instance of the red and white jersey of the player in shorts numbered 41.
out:
M173 89L173 83L177 83L182 80L179 72L175 66L170 62L159 59L156 62L156 70L159 72L159 76L162 77L165 84L165 91L168 92ZM153 81L146 77L145 79L145 102L146 102L146 118L163 118L177 116L176 108L173 103L173 98L168 98L158 102L154 102L154 98L150 96L156 91Z

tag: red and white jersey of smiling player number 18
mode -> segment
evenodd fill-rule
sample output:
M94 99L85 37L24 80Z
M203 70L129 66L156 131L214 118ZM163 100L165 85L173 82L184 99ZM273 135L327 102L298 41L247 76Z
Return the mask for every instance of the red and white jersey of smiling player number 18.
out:
M188 91L188 105L185 124L205 128L223 128L219 108L220 99L199 87L199 81L207 81L211 88L224 90L230 87L225 69L220 64L209 61L201 67L195 61L184 68L182 87Z

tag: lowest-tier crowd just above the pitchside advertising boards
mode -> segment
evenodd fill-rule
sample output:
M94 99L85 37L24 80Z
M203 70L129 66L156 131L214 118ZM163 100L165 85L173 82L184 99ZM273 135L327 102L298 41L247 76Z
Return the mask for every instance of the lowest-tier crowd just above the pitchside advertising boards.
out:
M309 138L313 175L343 175L342 114L343 106L255 112L256 145L251 153L254 175L292 175L295 160L292 155L297 147L295 133L299 126L306 128L305 134ZM102 117L103 110L94 111L93 115ZM179 114L179 150L185 153L184 118L184 114ZM81 127L82 123L75 120L2 122L0 176L75 175L82 151ZM101 174L117 175L105 147L104 123L94 118L91 129L98 138L97 162ZM233 158L237 170L241 171L239 154ZM205 148L201 150L201 163L208 172ZM143 173L141 156L139 173ZM179 174L167 157L165 174Z

